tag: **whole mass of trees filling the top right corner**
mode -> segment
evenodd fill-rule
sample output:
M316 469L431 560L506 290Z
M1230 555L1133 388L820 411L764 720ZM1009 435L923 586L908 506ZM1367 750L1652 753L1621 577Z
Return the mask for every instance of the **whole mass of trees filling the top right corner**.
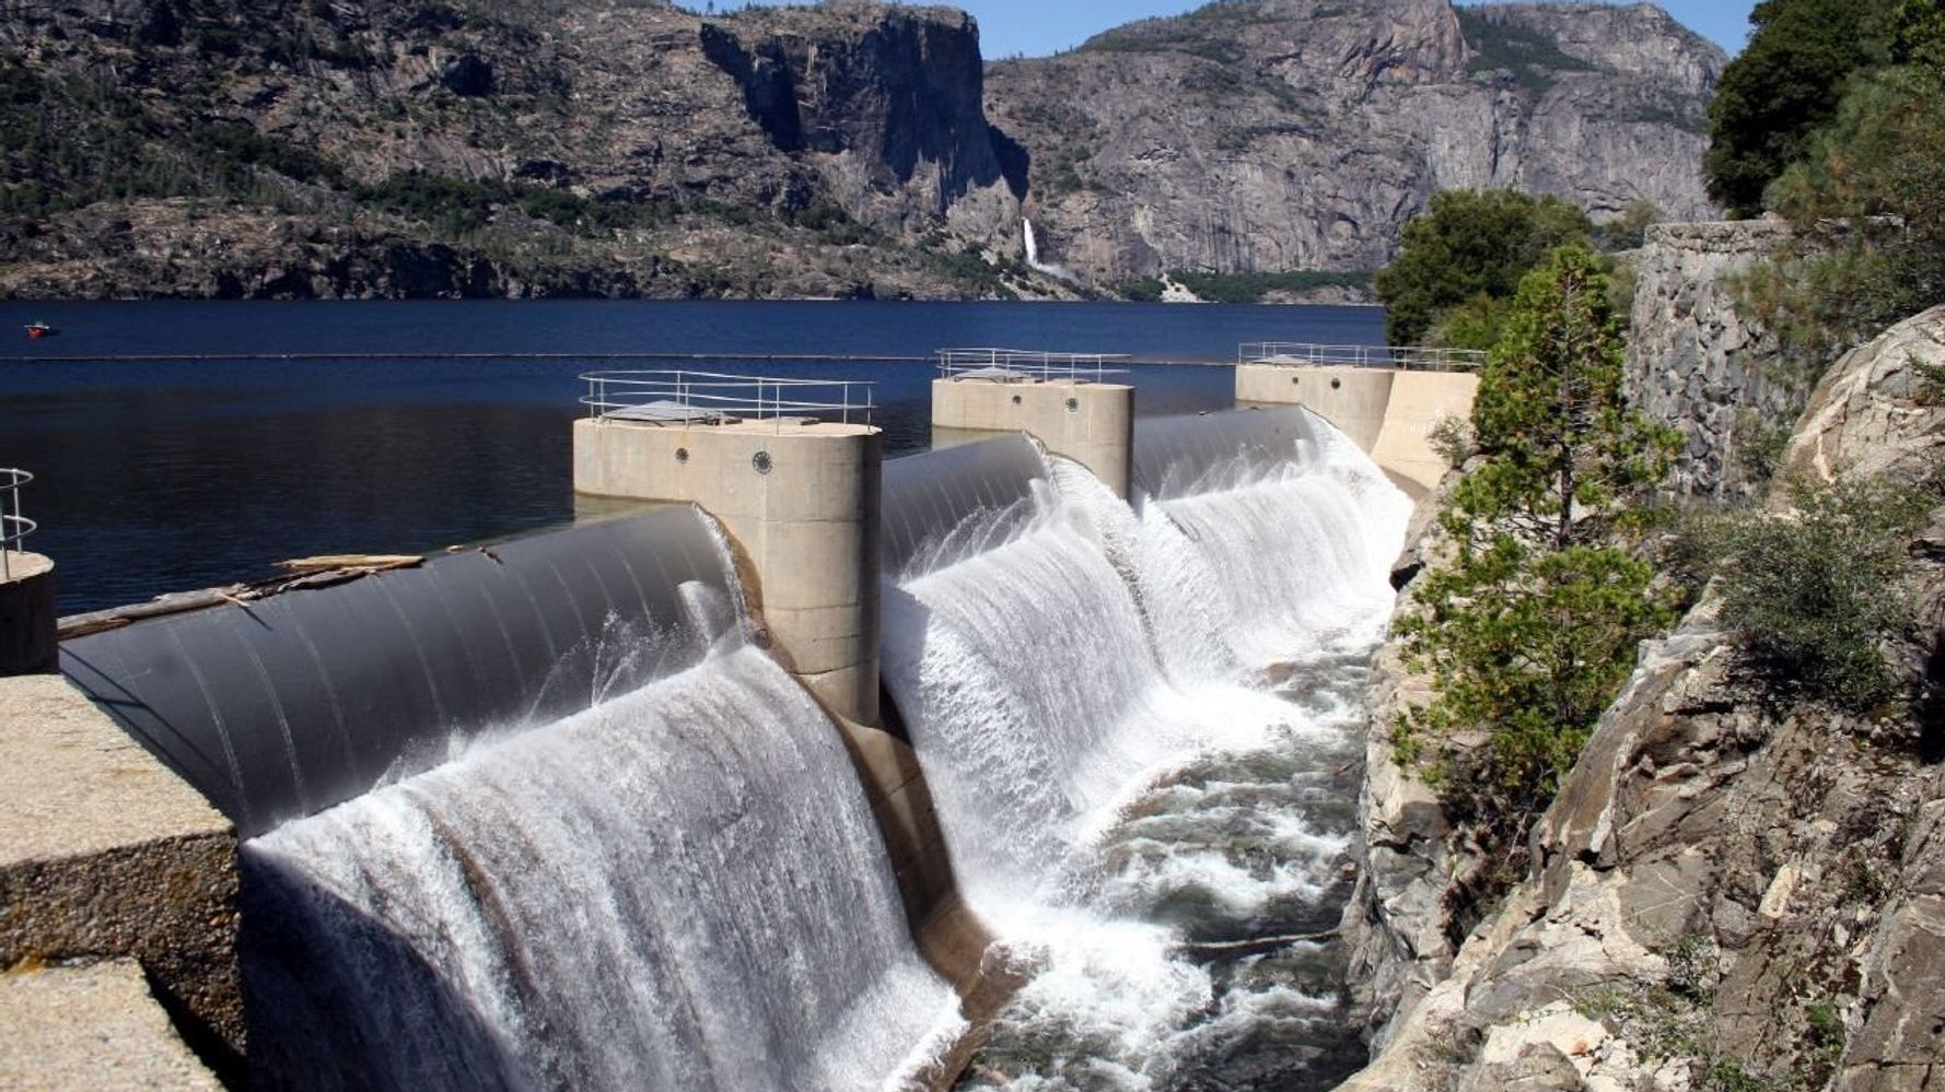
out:
M1945 301L1945 0L1768 0L1754 19L1708 175L1737 214L1795 227L1743 295L1807 389L1834 350Z

